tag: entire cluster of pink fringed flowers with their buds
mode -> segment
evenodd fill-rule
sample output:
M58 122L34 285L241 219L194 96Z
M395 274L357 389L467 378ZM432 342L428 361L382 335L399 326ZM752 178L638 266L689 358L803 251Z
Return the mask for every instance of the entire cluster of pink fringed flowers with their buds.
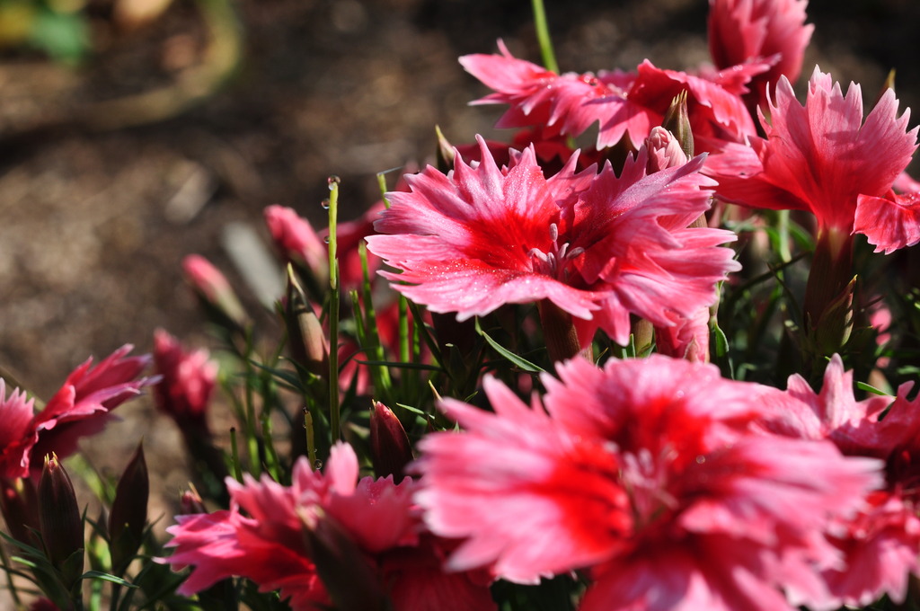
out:
M859 86L844 94L817 67L799 103L804 0L709 4L714 67L558 74L500 43L460 61L492 89L481 103L510 107L499 125L517 130L511 145L443 145L443 167L405 176L351 224L333 213L325 236L266 210L289 264L279 313L295 370L261 366L307 403L292 419L306 446L279 467L266 415L251 452L261 477L235 459L236 478L206 495L227 509L183 498L172 552L157 559L191 567L178 594L244 578L294 611L527 608L522 593L550 581L559 609L583 611L905 600L920 575L920 398L908 381L857 400L845 359L870 306L853 281L855 236L885 254L920 242L920 185L904 174L917 130L890 88L864 119ZM574 150L593 125L596 141ZM725 246L739 236L719 225L753 214L730 204L812 219L790 326L805 375L785 389L710 363L720 287L742 268ZM191 257L186 272L228 343L249 346L251 320L220 271ZM338 326L339 291L352 296L351 331ZM521 345L489 337L489 317ZM533 339L515 328L543 348L524 353ZM158 377L136 379L146 360L126 352L86 363L37 415L0 380L11 529L22 492L10 482L30 466L38 479L37 456L72 452L76 434L154 383L190 455L226 475L206 421L208 354L158 331ZM419 371L477 405L435 391L437 412L426 409ZM374 401L342 425L339 391L405 414Z

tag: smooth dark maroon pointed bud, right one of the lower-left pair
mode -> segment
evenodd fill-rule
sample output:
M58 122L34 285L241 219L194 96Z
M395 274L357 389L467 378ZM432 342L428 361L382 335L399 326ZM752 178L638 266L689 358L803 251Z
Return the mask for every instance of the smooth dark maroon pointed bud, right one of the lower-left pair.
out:
M144 540L149 496L150 479L147 477L144 445L138 444L131 462L121 474L109 513L109 550L112 571L116 575L121 575L128 568Z

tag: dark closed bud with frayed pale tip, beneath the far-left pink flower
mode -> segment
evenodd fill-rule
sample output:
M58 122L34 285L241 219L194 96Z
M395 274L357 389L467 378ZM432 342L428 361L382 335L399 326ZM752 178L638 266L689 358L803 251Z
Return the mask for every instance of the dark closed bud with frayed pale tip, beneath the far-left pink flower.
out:
M41 538L69 591L83 572L83 517L74 485L56 455L45 456L39 480Z

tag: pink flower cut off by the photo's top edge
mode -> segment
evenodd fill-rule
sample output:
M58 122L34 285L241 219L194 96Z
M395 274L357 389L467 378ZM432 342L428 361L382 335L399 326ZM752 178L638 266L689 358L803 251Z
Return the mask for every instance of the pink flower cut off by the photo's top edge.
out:
M756 75L745 98L753 110L766 101L780 76L799 78L813 25L805 25L807 0L709 0L709 54L719 69L751 61L770 68Z

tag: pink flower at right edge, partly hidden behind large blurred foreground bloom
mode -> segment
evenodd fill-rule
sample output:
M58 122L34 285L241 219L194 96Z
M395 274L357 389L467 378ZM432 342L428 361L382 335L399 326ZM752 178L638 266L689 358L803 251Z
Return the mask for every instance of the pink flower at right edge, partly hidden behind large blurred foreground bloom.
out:
M775 413L765 421L771 430L827 439L845 455L880 458L886 465L886 485L867 495L861 511L835 520L826 534L845 562L821 571L830 600L808 605L868 605L882 594L903 602L908 576L920 571L920 399L907 400L911 386L899 388L893 402L877 396L857 401L853 373L834 355L820 393L793 375L785 393L769 395Z

